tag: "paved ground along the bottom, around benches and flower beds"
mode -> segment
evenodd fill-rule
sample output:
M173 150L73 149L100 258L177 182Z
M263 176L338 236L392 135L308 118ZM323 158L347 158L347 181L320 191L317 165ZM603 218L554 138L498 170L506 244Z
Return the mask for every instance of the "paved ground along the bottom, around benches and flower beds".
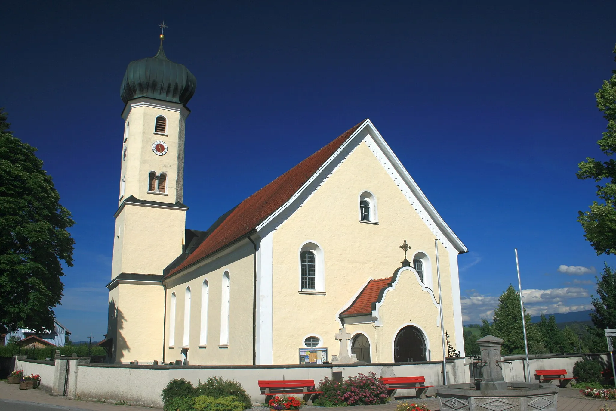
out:
M426 400L408 399L390 402L384 405L359 405L353 411L394 411L397 404L402 401L423 402L432 411L439 410L439 400L428 398ZM598 411L604 405L616 409L616 401L601 401L582 396L577 389L560 389L558 393L558 411ZM316 411L321 407L306 407ZM7 384L0 381L0 410L65 410L65 411L157 411L148 407L132 405L103 404L100 402L71 401L66 397L54 397L42 389L19 389L18 384ZM267 410L257 407L254 411Z

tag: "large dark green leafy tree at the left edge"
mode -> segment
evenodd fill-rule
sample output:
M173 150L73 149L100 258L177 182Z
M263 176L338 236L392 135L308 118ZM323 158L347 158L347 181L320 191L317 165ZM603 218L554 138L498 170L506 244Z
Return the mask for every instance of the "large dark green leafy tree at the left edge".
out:
M0 324L42 332L53 329L62 298L60 260L73 265L67 228L75 222L36 149L14 137L6 119L0 109Z

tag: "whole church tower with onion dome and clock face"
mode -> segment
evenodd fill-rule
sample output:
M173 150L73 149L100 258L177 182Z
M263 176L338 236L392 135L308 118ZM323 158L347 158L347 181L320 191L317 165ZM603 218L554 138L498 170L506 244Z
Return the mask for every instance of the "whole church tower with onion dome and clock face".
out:
M197 80L163 51L129 63L109 289L107 349L128 363L163 357L163 269L182 253L184 129Z

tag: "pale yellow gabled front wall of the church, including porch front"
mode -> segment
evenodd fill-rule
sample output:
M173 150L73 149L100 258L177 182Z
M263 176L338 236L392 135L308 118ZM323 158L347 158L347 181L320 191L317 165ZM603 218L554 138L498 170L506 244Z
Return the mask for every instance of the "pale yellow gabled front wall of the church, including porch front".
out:
M378 224L359 221L359 195L363 191L376 197ZM370 277L390 277L400 267L403 254L399 245L403 240L412 247L408 253L411 261L416 250L428 255L436 289L434 238L367 144L359 144L274 232L274 364L298 362L298 349L303 347L304 336L310 334L323 338L322 346L329 348L330 358L338 354L339 343L334 339L339 328L336 313ZM322 247L326 295L298 292L299 249L307 241ZM449 254L442 245L439 256L445 329L455 341ZM436 299L439 300L438 295ZM404 324L417 324L428 334L431 359L438 360L442 354L437 315L431 296L421 291L417 281L402 279L400 289L388 293L381 307L383 327L375 329L368 324L349 326L349 330L362 327L368 333L371 328L373 335L369 338L371 343L378 344L379 362L391 362L397 330Z

